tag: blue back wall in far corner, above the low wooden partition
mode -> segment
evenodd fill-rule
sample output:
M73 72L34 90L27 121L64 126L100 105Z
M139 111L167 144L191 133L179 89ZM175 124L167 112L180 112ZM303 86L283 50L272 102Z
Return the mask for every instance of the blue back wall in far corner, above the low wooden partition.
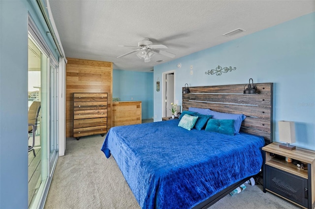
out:
M153 118L153 73L113 70L113 98L141 101L142 119Z

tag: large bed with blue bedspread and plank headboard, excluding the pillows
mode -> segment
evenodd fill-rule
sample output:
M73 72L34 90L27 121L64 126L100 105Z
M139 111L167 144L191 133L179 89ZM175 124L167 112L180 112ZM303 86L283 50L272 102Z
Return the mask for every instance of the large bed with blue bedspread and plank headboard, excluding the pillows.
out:
M111 128L101 150L113 156L141 208L207 208L256 175L272 141L272 83L189 87L189 107L242 113L239 134L179 127L180 120Z

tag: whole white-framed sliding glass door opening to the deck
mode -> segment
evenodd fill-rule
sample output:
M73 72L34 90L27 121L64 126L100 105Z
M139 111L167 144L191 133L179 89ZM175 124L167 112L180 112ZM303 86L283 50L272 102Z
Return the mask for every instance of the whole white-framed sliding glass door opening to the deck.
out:
M59 155L59 76L58 62L29 28L29 208L39 209Z

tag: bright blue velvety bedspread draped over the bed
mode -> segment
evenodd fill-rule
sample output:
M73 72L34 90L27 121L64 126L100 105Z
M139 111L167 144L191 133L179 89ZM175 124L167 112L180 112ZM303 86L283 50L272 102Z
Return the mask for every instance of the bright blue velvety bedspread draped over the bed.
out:
M101 150L115 158L143 209L187 209L259 172L264 139L188 131L179 120L111 128Z

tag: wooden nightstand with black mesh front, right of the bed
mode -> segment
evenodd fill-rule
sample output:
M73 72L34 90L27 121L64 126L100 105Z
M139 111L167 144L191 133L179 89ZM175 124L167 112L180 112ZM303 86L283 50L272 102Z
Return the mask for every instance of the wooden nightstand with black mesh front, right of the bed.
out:
M296 148L286 150L273 142L263 147L263 192L274 193L302 208L315 207L315 151ZM285 161L285 157L292 162ZM303 162L305 170L293 164Z

